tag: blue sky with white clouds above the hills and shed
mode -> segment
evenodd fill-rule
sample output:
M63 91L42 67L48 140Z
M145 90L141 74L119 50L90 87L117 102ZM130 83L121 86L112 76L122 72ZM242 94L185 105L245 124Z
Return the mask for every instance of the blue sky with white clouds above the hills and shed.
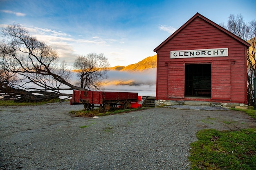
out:
M111 66L137 63L195 13L217 24L241 13L256 20L255 0L0 0L0 27L18 23L58 51L104 53Z

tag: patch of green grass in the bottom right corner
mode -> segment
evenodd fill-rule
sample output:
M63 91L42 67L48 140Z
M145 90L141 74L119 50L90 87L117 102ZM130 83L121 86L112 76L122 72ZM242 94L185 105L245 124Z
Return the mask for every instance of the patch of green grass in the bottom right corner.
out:
M191 144L191 169L250 170L256 167L256 128L240 131L205 129Z

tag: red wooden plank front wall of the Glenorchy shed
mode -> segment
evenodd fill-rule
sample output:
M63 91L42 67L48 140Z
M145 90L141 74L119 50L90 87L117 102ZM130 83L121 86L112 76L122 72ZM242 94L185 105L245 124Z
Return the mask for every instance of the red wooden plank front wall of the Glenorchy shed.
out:
M228 48L229 56L170 59L172 50L212 48ZM157 99L184 98L184 64L211 63L211 100L246 103L245 52L244 44L195 17L157 50ZM235 62L231 64L230 60Z

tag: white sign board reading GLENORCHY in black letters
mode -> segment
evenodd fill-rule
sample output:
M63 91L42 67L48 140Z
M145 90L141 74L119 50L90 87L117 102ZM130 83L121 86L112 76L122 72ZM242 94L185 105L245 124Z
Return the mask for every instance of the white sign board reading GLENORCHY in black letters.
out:
M194 57L227 57L227 56L229 56L228 48L171 51L171 59L194 58Z

